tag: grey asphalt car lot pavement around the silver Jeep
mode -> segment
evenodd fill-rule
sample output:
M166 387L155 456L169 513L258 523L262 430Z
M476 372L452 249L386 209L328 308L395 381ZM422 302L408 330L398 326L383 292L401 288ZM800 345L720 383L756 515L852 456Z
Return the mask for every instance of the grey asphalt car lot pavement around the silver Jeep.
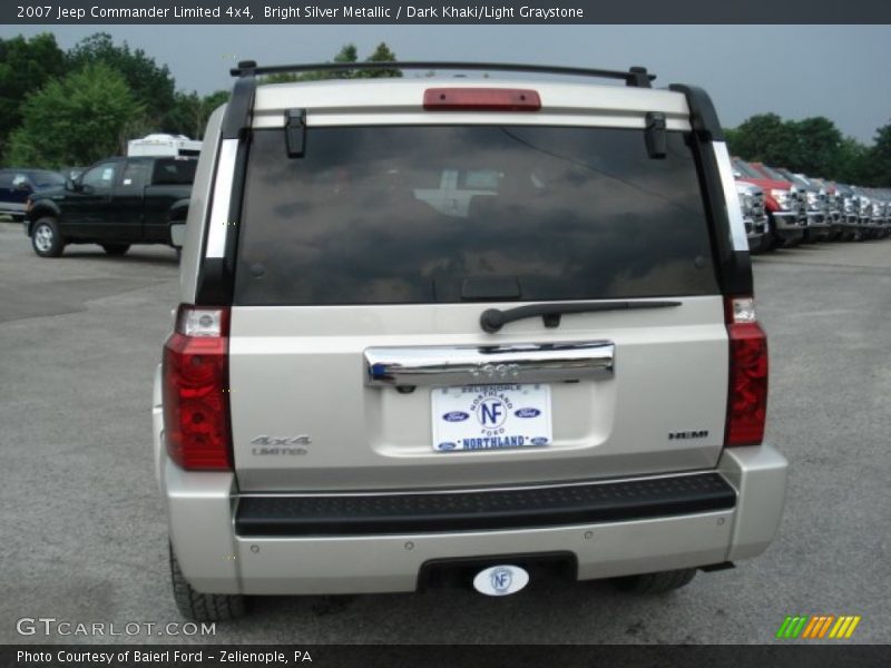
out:
M771 345L767 440L792 463L780 536L674 593L546 582L472 591L268 598L217 642L768 642L786 615L860 615L851 641L891 640L891 242L819 244L753 261ZM169 248L33 255L0 222L0 642L22 617L180 621L150 443L154 367L177 282ZM509 623L505 620L509 620ZM492 629L497 628L493 633Z

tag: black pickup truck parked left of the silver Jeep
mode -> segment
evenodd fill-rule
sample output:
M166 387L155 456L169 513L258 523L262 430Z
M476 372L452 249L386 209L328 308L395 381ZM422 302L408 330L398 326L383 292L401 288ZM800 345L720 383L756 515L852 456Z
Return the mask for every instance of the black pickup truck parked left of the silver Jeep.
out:
M170 223L185 220L194 158L108 158L65 187L36 191L26 205L25 233L40 257L67 244L99 244L123 255L131 244L172 246Z

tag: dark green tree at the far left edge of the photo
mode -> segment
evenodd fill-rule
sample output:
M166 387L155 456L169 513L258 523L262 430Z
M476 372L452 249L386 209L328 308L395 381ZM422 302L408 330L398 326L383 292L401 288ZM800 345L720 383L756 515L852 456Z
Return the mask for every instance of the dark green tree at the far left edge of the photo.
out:
M65 53L51 33L30 40L21 36L0 39L0 155L6 153L10 132L22 121L25 97L63 73Z

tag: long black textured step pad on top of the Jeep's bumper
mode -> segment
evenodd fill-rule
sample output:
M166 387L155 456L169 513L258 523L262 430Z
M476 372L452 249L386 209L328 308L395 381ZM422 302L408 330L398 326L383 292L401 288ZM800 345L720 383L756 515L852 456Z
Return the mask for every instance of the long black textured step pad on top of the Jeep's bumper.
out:
M242 497L242 537L435 533L645 520L728 510L736 492L718 473L587 484L378 494Z

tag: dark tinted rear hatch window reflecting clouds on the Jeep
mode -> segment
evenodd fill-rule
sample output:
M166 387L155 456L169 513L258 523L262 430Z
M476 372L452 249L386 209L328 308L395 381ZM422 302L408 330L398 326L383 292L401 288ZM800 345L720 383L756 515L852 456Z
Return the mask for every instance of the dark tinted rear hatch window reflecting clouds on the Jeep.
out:
M256 130L241 305L418 304L709 295L718 287L683 132L315 127L290 159Z

